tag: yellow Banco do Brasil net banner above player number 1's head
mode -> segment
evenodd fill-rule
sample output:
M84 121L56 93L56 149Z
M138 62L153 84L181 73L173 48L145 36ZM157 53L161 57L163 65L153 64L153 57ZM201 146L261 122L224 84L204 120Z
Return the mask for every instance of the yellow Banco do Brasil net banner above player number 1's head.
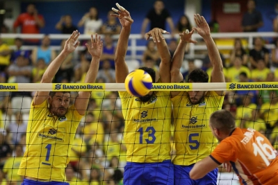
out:
M104 91L104 83L85 84L85 83L65 83L65 84L53 84L53 91Z

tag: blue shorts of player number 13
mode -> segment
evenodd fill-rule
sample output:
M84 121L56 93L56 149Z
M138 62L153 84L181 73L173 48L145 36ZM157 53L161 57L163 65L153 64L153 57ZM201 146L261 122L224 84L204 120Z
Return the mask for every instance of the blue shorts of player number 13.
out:
M171 160L161 163L127 162L124 167L124 185L172 185L174 165Z

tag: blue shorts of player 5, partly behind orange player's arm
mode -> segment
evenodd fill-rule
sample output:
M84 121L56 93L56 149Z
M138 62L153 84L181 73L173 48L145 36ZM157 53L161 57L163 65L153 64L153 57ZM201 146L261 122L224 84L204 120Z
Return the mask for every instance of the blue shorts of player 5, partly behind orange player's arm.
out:
M189 172L194 164L190 166L174 165L174 184L175 185L216 185L218 177L218 168L215 168L210 173L206 174L202 179L190 179Z

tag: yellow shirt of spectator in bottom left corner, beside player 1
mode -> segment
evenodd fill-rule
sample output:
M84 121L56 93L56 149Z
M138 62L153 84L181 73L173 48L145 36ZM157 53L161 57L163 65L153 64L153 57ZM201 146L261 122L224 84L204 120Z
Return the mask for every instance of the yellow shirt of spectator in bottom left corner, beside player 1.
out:
M20 161L22 161L22 157L10 157L5 162L5 165L3 167L3 173L7 173L6 177L8 181L22 181L22 177L20 175L17 175Z

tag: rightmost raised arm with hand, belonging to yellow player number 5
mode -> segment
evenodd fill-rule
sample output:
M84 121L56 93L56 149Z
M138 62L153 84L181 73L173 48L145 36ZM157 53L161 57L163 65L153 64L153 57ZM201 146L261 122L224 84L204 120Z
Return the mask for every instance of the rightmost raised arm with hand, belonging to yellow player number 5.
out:
M211 32L209 30L208 24L206 23L206 19L200 16L199 14L194 15L195 23L197 28L193 28L196 30L199 35L201 35L206 43L206 48L208 49L208 57L211 60L211 64L213 65L213 70L211 71L211 82L225 82L224 73L223 73L223 64L220 58L220 53L216 44L211 37ZM222 95L223 91L215 91L216 94Z

